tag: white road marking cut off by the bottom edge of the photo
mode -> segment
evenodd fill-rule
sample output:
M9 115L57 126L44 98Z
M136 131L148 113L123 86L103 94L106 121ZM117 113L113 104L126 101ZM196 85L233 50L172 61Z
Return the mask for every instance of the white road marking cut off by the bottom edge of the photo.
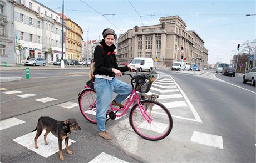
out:
M118 158L111 156L109 154L106 154L104 152L102 152L100 155L95 157L89 163L98 163L98 162L101 162L101 163L109 163L109 162L126 163L126 161L118 159Z

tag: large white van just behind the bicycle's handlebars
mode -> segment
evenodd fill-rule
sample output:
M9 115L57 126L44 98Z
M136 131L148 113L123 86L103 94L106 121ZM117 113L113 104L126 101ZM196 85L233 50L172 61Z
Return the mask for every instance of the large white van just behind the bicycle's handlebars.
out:
M154 67L154 62L152 58L135 57L129 65L138 69L139 72L142 72L142 70L151 71Z

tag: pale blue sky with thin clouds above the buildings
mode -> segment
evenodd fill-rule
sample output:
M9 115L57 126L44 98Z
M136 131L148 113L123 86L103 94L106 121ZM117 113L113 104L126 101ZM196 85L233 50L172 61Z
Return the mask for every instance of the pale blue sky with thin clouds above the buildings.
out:
M62 12L62 0L37 0ZM160 17L178 15L208 49L208 64L230 63L237 44L256 39L255 0L64 0L64 14L83 30L83 40L102 39L102 30L117 35L137 26L160 24ZM240 47L241 49L242 47Z

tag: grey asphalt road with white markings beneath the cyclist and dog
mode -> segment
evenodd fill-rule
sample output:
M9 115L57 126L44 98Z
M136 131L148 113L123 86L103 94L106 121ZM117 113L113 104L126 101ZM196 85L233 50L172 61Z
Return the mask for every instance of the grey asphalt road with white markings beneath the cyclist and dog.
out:
M1 162L61 162L56 151L48 157L32 151L35 133L31 131L40 116L75 118L82 128L72 132L74 154L64 152L65 162L255 162L256 91L249 83L243 84L240 76L161 70L150 92L159 94L160 103L173 115L171 134L160 141L144 140L131 129L126 115L108 121L106 128L114 140L107 141L97 136L96 125L88 123L78 107L77 95L88 79L86 71L42 72L37 71L35 78L1 83L7 89L1 90L1 125L10 118L23 121L1 128ZM85 74L77 75L80 72ZM129 77L120 79L129 83ZM7 94L11 91L16 92ZM28 147L22 145L26 139ZM40 148L48 150L43 144ZM102 155L103 160L99 159Z

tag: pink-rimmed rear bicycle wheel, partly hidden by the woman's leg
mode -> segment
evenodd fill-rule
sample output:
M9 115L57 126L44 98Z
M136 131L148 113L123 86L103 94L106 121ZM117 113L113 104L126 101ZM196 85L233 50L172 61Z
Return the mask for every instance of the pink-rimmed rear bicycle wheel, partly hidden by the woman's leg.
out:
M79 108L82 115L91 123L96 124L96 91L85 89L78 98Z

